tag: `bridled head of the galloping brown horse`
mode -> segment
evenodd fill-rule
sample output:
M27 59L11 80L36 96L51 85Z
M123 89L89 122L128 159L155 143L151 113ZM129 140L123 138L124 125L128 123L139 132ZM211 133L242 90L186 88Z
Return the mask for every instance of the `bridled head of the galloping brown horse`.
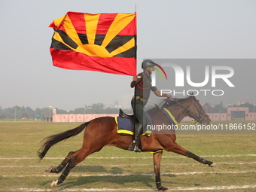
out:
M189 105L189 107L187 107L188 116L194 118L195 120L197 120L197 122L201 124L209 125L211 120L206 112L203 110L202 105L200 104L199 100L196 99L193 93L190 94L189 100L191 104Z

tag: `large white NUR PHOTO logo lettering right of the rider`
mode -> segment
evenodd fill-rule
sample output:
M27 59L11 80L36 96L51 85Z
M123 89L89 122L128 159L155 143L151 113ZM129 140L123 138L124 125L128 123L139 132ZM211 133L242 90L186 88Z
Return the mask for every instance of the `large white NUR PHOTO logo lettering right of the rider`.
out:
M185 87L185 84L193 87L193 89L190 90L171 90L167 87L167 89L160 90L162 94L167 93L173 94L174 96L178 94L190 96L190 93L194 93L194 96L199 94L203 94L204 96L207 96L208 94L212 94L212 96L223 96L224 90L218 89L218 84L221 83L221 87L235 87L230 80L235 74L235 71L230 66L202 66L200 68L201 72L192 72L196 71L198 66L187 65L182 68L180 65L173 62L159 63L159 65L164 69L163 72L174 72L175 78L172 77L172 81L175 81L175 87ZM152 86L157 86L156 76L156 72L154 71L152 73ZM192 80L193 78L200 78L200 81L194 81ZM211 89L203 89L203 87L206 86L211 87Z

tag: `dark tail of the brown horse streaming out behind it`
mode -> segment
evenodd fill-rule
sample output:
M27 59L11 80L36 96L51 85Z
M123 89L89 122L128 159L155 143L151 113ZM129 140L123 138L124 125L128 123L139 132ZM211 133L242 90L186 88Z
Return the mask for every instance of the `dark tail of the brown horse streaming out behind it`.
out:
M72 130L67 130L65 132L53 135L53 136L48 136L47 138L43 139L42 142L44 142L44 144L41 146L41 148L38 151L38 157L40 160L42 160L45 156L45 154L47 154L47 151L50 149L50 147L52 147L53 145L55 145L58 142L61 142L65 139L69 139L70 137L76 136L79 133L81 133L82 130L84 130L84 128L90 123L90 121L81 124L80 126L72 129Z

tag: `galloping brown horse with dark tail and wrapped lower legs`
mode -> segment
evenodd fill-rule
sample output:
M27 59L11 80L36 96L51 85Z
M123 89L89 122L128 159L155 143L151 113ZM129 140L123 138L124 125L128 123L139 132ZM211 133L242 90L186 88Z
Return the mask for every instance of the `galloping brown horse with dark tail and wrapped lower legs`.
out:
M186 116L192 117L197 120L197 122L203 124L209 124L211 121L205 111L203 111L202 105L200 105L195 96L189 96L185 99L165 99L162 108L172 111L172 115L178 123ZM151 109L148 111L148 114L151 115L154 125L162 125L163 123L166 126L172 125L159 107ZM75 129L67 130L66 132L49 136L44 139L44 144L38 151L39 158L42 160L50 147L64 139L69 139L72 136L78 135L78 133L81 133L85 127L86 130L84 131L84 142L82 148L75 152L69 152L67 157L56 168L50 167L45 170L45 172L59 173L68 164L66 169L62 172L62 175L60 175L56 181L53 181L50 184L50 187L54 187L57 184L62 183L66 176L69 175L72 168L83 161L88 155L93 154L96 151L100 151L104 146L111 145L128 150L130 143L132 142L132 136L120 136L120 134L117 134L117 123L115 122L114 117L99 117L90 120L87 123L83 123ZM185 150L178 145L175 140L175 130L166 131L165 133L153 130L151 136L141 136L142 151L156 152L153 154L153 157L155 181L158 190L167 190L166 187L161 185L160 181L160 160L163 150L172 151L176 154L193 158L194 160L207 164L210 167L216 165L211 161L205 160L202 157L198 157L190 151Z

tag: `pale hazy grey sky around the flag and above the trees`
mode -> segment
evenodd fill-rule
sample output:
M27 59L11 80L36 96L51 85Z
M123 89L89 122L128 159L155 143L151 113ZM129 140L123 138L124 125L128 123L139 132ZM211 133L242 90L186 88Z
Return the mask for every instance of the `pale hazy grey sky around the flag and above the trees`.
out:
M3 0L0 2L0 106L35 109L52 105L73 110L93 103L114 102L118 93L133 92L131 76L53 66L49 51L53 29L48 26L68 11L90 14L136 11L139 73L145 58L255 59L255 9L253 0ZM256 72L255 66L234 68ZM239 71L236 70L236 77ZM239 79L247 82L248 77L245 73ZM248 82L255 80L256 75ZM250 86L245 97L230 92L215 103L239 100L256 103L255 85ZM201 101L211 102L208 100Z

